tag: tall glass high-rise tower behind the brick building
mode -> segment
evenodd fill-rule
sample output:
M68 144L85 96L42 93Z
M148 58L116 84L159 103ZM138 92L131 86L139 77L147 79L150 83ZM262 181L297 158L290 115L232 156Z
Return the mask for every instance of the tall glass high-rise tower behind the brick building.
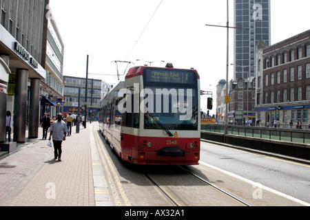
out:
M234 80L255 76L256 42L270 44L270 0L234 0Z

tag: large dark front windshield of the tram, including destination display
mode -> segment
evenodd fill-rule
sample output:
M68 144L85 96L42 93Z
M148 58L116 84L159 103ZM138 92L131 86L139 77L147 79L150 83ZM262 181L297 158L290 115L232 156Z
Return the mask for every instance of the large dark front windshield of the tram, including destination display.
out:
M197 131L197 79L190 70L144 69L144 129Z

